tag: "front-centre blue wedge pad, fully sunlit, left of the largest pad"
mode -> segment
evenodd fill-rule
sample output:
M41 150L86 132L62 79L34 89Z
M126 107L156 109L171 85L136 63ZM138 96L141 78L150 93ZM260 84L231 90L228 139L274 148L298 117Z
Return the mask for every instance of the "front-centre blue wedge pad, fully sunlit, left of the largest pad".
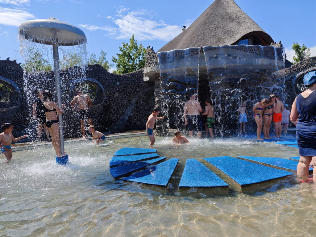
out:
M209 168L196 159L187 159L179 187L221 187L228 186Z

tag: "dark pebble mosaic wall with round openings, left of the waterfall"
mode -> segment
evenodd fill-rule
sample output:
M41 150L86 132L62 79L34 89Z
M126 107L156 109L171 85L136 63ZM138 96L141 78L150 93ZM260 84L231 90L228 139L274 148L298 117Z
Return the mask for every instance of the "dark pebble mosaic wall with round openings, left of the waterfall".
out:
M65 137L79 137L80 124L76 119L76 112L70 108L69 103L76 95L75 88L81 80L76 78L78 68L71 67L61 70L62 100L67 105L64 112L64 133ZM70 76L71 75L71 76ZM74 77L75 75L75 77ZM37 79L41 80L40 88L54 91L53 71L30 72L25 75L30 78L28 88L31 97L36 98L35 89L39 88ZM94 85L97 94L93 100L91 113L94 125L99 131L124 132L132 130L144 130L145 123L152 108L154 107L154 82L143 81L143 69L128 74L114 74L107 72L102 66L88 65L86 70L87 80L85 83ZM0 60L0 83L9 85L7 78L14 82L21 94L21 101L18 109L11 113L0 114L0 123L11 122L15 126L16 136L25 132L26 128L33 128L35 134L35 123L29 116L30 104L25 100L26 94L23 86L23 70L15 61ZM12 86L11 86L12 88ZM0 110L5 106L1 104ZM70 129L71 128L71 129Z

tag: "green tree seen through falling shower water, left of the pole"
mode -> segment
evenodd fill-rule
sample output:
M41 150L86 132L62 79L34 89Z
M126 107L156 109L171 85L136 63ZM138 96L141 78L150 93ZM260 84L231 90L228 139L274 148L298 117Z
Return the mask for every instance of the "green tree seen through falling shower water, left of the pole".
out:
M27 58L21 67L26 71L49 71L52 70L52 65L45 60L43 55L35 48L29 48Z

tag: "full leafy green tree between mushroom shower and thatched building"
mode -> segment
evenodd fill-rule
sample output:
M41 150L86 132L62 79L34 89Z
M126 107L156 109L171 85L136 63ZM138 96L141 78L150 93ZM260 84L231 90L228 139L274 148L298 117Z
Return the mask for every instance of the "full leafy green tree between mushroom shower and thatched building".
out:
M142 44L137 45L134 35L130 39L130 44L123 42L119 47L121 53L117 53L117 58L112 57L113 63L116 64L114 73L129 73L145 67L146 49Z

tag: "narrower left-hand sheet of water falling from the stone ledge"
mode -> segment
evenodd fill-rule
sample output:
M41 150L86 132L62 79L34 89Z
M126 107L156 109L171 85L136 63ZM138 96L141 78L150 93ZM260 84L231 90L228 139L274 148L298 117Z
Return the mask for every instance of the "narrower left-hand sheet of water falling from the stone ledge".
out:
M169 127L180 129L184 125L185 96L197 94L200 48L187 48L158 52L160 68L160 95L157 101L165 121L157 125L163 135Z

